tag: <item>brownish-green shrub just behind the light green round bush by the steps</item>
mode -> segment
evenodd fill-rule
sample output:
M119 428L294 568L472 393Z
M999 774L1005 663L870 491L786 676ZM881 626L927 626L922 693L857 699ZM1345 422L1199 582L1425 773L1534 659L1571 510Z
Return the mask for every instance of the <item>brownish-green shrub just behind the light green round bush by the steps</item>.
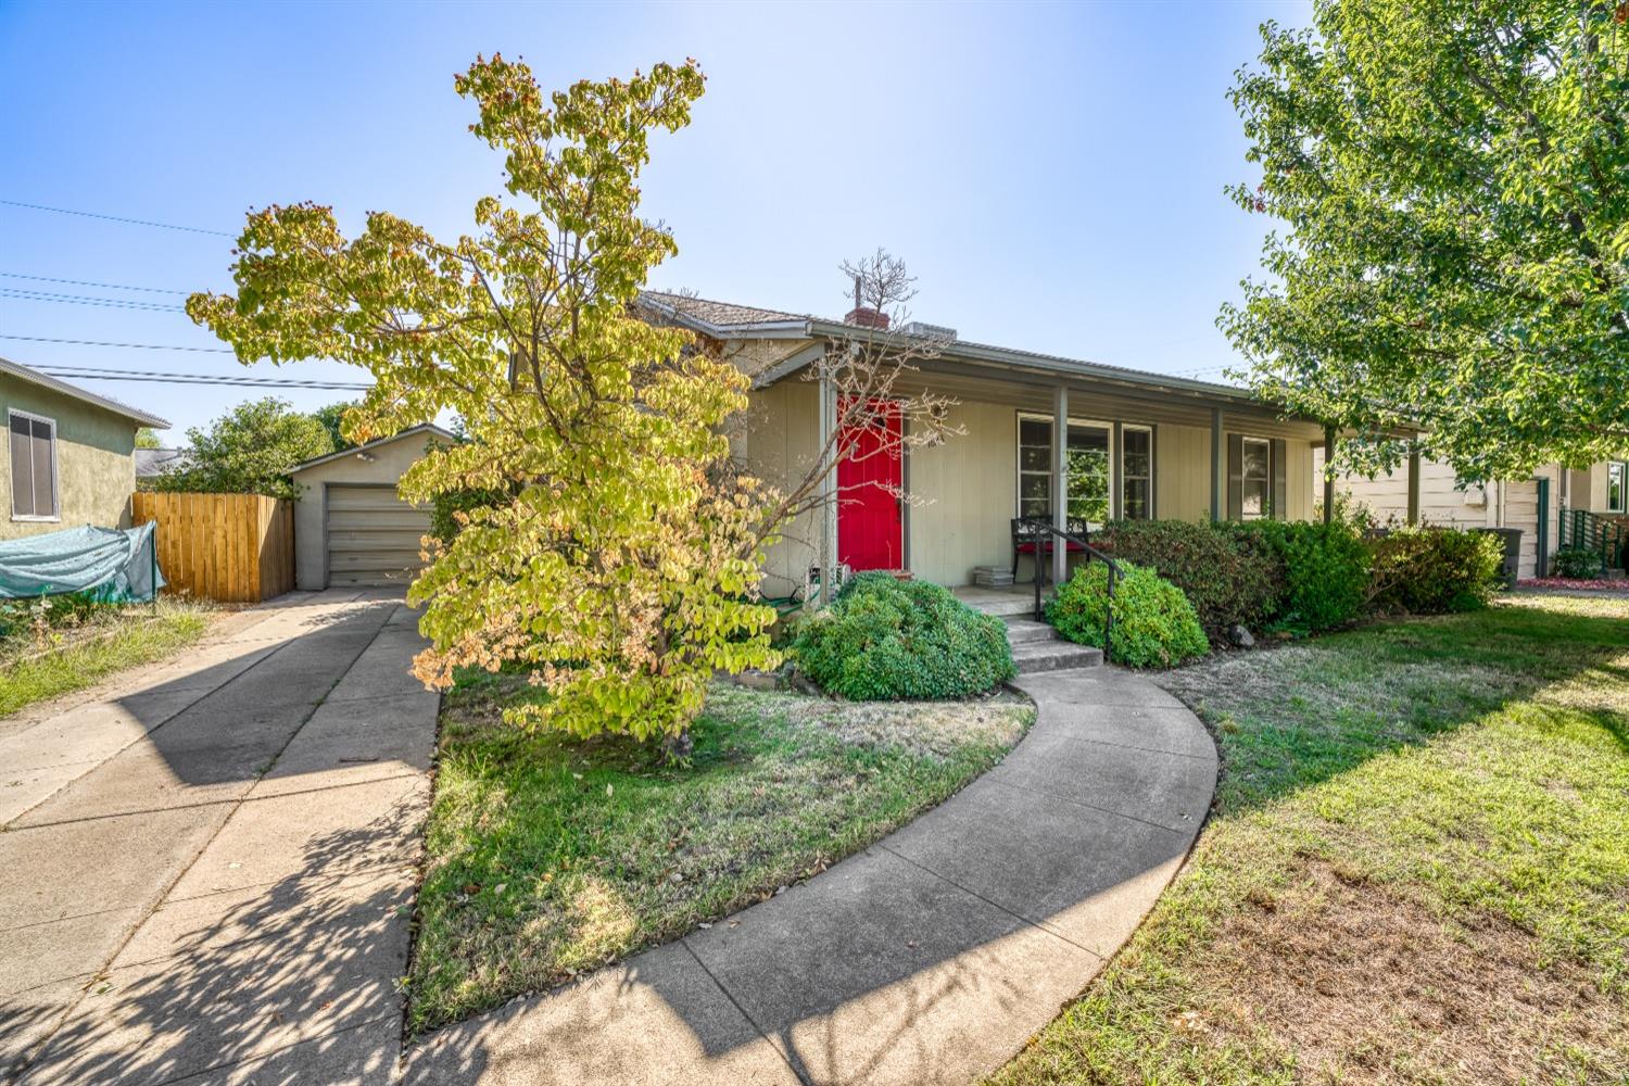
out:
M1114 557L1147 567L1183 589L1212 640L1235 622L1259 627L1284 594L1284 563L1254 532L1233 524L1114 521L1100 536Z

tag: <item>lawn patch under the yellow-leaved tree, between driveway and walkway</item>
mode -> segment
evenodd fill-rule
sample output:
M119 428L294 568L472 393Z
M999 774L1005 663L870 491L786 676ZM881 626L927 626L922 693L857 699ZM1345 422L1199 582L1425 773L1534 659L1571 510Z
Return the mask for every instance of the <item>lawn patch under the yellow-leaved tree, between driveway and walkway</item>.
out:
M525 733L513 676L441 712L409 970L412 1032L570 980L808 878L940 803L1026 702L847 703L714 685L687 769L653 744Z

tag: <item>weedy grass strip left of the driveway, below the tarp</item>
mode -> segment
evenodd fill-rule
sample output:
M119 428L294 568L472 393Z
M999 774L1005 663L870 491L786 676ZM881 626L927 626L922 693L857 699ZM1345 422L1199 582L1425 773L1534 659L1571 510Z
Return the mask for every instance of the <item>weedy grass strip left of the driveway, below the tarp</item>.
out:
M204 637L209 606L168 596L156 607L59 604L44 642L28 622L28 604L8 604L3 619L0 716L174 655Z

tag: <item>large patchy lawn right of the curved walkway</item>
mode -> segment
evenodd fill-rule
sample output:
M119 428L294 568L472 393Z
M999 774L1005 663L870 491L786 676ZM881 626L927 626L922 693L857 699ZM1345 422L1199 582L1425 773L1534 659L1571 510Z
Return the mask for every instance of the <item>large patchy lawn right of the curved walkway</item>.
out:
M994 1083L1629 1081L1629 601L1157 681L1217 733L1215 812Z

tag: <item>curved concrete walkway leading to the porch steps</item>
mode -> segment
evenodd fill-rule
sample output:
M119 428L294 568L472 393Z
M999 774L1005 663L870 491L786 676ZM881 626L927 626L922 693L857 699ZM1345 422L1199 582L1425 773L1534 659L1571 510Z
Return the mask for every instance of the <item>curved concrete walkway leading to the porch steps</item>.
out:
M1217 778L1209 733L1113 668L1026 676L1030 734L915 822L707 931L451 1026L406 1081L969 1083L1131 936Z

